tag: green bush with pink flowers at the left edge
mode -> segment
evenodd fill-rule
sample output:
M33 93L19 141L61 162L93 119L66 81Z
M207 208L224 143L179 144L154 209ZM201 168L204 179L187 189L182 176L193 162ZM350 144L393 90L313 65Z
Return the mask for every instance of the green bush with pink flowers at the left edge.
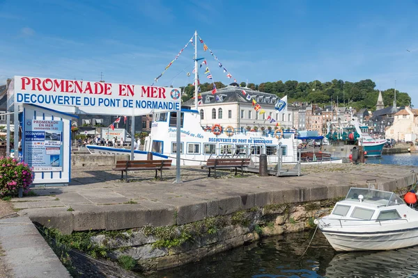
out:
M27 163L18 162L15 158L0 158L0 197L16 196L19 188L29 192L33 172Z

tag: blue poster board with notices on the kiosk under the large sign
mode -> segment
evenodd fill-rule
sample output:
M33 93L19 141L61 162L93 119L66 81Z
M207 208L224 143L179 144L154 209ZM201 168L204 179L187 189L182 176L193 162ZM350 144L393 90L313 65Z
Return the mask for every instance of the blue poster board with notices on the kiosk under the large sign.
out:
M34 172L63 170L63 121L26 120L24 158Z

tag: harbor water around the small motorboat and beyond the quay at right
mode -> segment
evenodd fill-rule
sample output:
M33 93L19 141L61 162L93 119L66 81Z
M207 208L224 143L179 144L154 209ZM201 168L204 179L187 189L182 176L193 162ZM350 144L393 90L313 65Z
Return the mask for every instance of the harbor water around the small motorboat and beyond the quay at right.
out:
M367 158L366 163L418 166L418 153ZM307 231L264 238L247 246L178 268L154 272L146 277L412 278L418 277L418 246L385 252L341 253L334 251L320 231L315 234L314 231Z

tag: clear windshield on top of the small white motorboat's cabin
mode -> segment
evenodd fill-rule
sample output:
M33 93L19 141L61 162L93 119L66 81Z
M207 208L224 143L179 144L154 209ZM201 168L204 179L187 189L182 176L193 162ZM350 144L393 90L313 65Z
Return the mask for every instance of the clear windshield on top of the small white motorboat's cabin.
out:
M346 200L359 200L360 202L377 204L378 206L405 204L403 199L395 193L367 188L350 188Z

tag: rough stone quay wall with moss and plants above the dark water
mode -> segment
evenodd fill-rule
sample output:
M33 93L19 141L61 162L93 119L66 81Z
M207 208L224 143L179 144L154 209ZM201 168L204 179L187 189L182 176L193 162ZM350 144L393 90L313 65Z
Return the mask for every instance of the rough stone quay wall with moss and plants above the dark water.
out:
M130 256L137 261L138 270L161 270L199 261L263 236L311 229L314 218L329 212L335 202L269 205L180 226L130 229L116 236L100 234L91 240L109 250L111 259Z

